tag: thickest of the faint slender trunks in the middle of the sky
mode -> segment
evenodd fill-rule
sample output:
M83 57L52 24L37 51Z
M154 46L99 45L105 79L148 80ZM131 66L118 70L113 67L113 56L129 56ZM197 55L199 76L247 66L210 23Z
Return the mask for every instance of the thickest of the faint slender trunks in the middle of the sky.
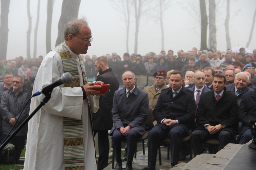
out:
M142 0L138 0L138 8L137 8L137 0L134 2L134 10L135 10L135 43L134 43L134 53L138 52L138 34L139 34L139 26L140 26L140 17L142 11Z

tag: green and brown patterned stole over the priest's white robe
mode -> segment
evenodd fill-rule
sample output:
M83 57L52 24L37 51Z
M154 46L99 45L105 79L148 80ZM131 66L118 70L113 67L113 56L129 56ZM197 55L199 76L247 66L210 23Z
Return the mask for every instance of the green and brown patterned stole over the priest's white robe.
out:
M62 42L60 45L55 47L54 50L59 53L62 59L64 73L69 72L73 77L70 83L64 83L64 87L80 87L77 62L72 59L66 43ZM83 84L87 84L87 77L85 74L83 59L80 55L78 58L83 72ZM87 96L87 101L90 108L90 96ZM89 118L92 122L90 110L89 115ZM84 170L84 141L82 118L80 120L77 120L73 118L63 117L63 135L65 170Z

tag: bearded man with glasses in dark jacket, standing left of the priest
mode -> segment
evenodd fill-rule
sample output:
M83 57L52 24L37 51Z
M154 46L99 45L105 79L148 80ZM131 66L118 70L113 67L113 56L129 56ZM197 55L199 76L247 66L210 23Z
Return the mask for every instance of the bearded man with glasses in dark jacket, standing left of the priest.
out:
M22 111L24 104L26 103L27 91L23 89L24 78L23 76L14 76L13 78L13 90L8 90L3 93L1 99L1 114L3 117L3 136L6 137L16 123L19 113ZM24 110L15 125L14 130L28 117L28 113ZM16 136L10 141L15 146L15 162L18 164L20 153L24 149L25 140L27 136L28 126L25 125Z

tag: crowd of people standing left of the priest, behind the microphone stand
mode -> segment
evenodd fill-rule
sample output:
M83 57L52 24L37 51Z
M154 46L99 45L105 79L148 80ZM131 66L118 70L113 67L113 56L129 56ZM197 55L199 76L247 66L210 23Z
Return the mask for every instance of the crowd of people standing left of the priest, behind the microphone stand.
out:
M42 60L42 56L30 60L19 56L14 60L0 61L0 143L11 135L9 132L14 125L12 132L27 118L29 106L23 112L22 109L31 96L33 82ZM27 125L9 142L15 146L15 162L17 164L26 138Z

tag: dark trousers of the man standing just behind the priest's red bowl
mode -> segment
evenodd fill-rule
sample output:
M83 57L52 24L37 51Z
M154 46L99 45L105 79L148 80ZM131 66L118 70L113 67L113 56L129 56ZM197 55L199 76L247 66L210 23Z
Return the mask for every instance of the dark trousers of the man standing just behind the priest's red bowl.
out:
M102 170L108 166L109 161L109 133L108 130L94 130L94 136L98 134L98 169Z

